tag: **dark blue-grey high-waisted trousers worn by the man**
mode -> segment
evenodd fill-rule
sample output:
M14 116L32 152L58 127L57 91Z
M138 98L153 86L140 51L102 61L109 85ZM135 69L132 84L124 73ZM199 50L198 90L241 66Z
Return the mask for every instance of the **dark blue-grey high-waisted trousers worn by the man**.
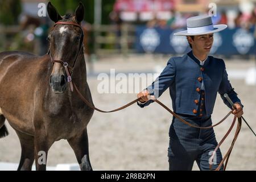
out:
M210 116L198 118L182 115L181 118L200 127L212 125ZM191 171L195 161L200 170L209 170L210 156L218 144L213 129L196 129L185 125L174 117L170 126L169 136L168 161L170 170ZM212 169L217 168L221 160L222 155L220 148L218 148L213 158Z

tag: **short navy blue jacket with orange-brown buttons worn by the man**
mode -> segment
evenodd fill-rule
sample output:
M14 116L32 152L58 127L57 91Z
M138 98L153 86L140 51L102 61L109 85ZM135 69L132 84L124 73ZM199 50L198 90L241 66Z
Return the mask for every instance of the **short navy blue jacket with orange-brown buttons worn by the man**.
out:
M169 88L172 99L172 108L175 113L197 115L193 110L198 110L199 105L195 100L200 100L200 89L204 81L205 90L205 110L210 115L213 112L217 93L220 94L224 103L232 108L224 98L227 93L230 99L241 104L237 93L234 92L226 73L225 63L222 59L208 56L203 66L196 59L192 51L183 57L172 57L168 60L166 68L158 78L146 89L156 98ZM138 102L140 107L151 104L149 100L143 104ZM242 105L242 104L241 104Z

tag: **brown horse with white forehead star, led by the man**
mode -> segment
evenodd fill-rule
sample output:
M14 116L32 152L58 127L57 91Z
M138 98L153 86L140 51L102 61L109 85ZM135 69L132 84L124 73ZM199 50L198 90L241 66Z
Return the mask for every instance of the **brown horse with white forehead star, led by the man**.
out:
M49 2L47 12L55 22L49 54L0 53L0 138L8 135L7 119L22 149L18 170L31 170L34 160L36 170L46 170L48 150L60 139L68 141L81 170L92 170L86 127L94 109L72 92L71 84L72 79L93 105L80 27L84 11L80 3L74 15L60 16Z

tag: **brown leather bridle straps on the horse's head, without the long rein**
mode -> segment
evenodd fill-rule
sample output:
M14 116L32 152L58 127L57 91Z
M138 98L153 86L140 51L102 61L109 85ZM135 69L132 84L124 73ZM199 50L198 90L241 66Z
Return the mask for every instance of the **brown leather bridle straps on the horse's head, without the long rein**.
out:
M75 22L57 22L54 24L54 27L57 25L57 24L69 24L69 25L73 25L73 26L76 26L76 27L79 27L80 30L82 31L82 27L80 26L80 24L78 23L75 23ZM49 48L49 51L48 51L48 55L51 56L51 61L52 61L52 66L54 63L60 63L60 64L63 64L63 67L65 68L65 72L67 73L67 80L71 86L71 91L73 92L73 83L72 83L72 74L73 74L73 68L75 67L75 64L76 64L76 61L77 61L77 58L78 56L83 53L83 50L84 50L84 31L82 31L82 35L81 35L81 40L80 40L80 45L79 45L79 52L77 52L77 55L76 55L76 59L74 61L74 64L73 66L69 66L67 61L63 61L63 60L56 60L56 59L53 59L52 57L52 54L51 54L51 49Z

